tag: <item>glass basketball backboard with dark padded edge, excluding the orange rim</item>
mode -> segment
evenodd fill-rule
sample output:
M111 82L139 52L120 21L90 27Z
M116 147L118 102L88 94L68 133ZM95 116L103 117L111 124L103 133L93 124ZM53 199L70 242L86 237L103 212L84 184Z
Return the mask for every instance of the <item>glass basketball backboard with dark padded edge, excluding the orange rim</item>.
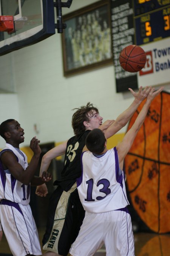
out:
M53 0L0 0L0 16L14 18L14 33L0 32L0 55L56 33Z

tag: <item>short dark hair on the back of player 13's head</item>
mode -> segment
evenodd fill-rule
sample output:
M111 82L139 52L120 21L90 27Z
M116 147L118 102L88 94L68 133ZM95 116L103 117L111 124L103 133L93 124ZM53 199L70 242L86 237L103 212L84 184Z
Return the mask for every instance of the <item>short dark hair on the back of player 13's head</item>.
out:
M89 151L95 154L100 154L105 149L106 138L102 130L93 129L88 133L85 144Z

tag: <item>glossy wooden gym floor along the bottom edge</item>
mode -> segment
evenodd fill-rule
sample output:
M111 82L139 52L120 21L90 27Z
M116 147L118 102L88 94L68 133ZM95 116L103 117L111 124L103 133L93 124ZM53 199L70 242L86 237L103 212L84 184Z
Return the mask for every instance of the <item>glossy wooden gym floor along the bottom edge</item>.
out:
M39 229L38 232L41 241L44 230ZM136 256L170 256L170 233L161 235L150 232L134 233L134 241ZM42 250L42 252L45 251ZM105 256L105 248L100 249L94 255ZM4 235L0 242L0 256L12 256Z

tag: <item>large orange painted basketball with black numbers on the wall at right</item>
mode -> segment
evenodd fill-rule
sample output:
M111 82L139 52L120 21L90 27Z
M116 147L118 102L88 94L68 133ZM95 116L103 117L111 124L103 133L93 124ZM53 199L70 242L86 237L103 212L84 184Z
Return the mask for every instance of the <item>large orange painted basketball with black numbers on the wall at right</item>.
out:
M124 166L131 202L141 220L156 233L170 232L170 93L161 92L151 103Z

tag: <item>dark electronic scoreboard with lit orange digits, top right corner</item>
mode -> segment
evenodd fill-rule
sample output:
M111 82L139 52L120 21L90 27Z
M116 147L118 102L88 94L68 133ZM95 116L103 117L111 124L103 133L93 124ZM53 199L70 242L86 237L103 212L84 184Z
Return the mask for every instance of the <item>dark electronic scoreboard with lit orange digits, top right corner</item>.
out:
M170 36L170 0L134 0L135 44Z

